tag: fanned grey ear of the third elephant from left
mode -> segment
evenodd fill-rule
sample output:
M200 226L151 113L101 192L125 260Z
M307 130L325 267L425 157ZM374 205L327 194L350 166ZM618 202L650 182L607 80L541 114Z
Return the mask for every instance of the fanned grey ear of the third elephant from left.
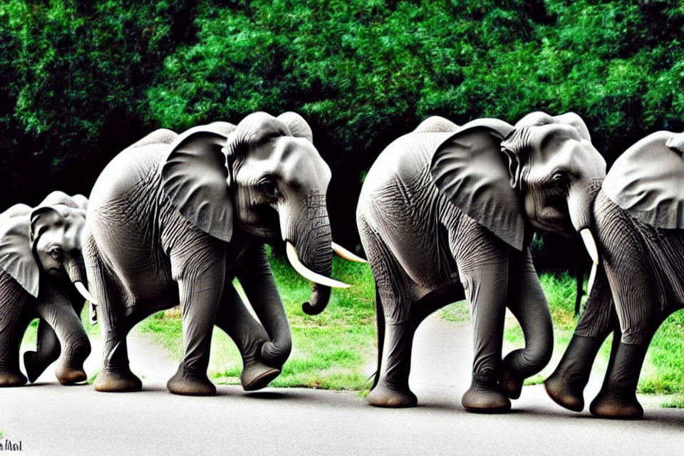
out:
M510 185L501 142L513 130L502 120L478 119L437 147L432 180L456 207L515 249L524 245L525 220L518 191Z

